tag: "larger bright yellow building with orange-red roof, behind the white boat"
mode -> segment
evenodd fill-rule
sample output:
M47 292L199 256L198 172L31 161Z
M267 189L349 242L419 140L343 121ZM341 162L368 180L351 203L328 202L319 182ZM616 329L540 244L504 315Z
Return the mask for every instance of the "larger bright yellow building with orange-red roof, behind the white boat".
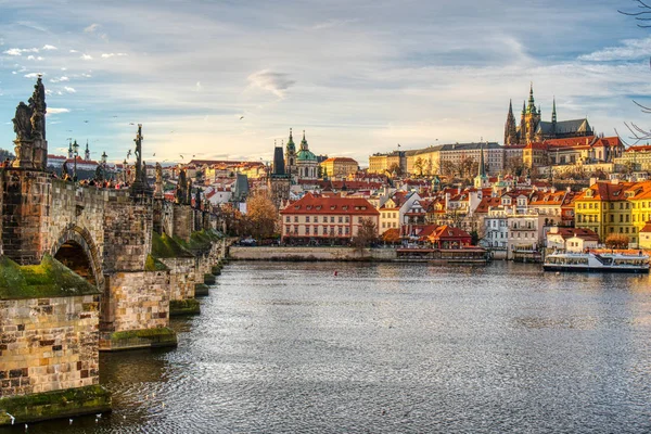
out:
M637 228L633 225L631 203L627 191L633 182L597 182L578 194L574 201L575 226L591 229L601 242L612 233L626 234L637 243ZM628 194L629 195L629 194Z

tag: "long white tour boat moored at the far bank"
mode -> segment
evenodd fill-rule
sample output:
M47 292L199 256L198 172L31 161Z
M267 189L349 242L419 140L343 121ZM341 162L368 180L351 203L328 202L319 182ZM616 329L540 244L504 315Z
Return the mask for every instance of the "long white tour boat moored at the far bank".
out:
M649 256L622 253L552 253L547 255L545 271L649 272Z

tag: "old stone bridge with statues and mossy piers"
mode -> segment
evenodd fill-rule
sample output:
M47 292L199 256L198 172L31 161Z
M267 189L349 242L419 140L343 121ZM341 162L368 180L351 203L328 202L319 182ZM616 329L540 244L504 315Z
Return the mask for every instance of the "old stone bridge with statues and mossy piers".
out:
M0 169L0 425L110 408L98 352L176 345L170 314L199 311L226 254L190 183L179 203L149 188L141 126L131 188L80 187L46 170L44 115L39 78Z

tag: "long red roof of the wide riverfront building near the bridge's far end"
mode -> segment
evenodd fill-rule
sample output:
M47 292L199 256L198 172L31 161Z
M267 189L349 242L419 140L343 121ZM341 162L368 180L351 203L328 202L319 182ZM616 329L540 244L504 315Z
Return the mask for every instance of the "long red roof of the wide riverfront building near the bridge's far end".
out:
M380 213L362 197L315 196L307 193L298 201L280 212L285 214L353 214L359 216L379 216Z

